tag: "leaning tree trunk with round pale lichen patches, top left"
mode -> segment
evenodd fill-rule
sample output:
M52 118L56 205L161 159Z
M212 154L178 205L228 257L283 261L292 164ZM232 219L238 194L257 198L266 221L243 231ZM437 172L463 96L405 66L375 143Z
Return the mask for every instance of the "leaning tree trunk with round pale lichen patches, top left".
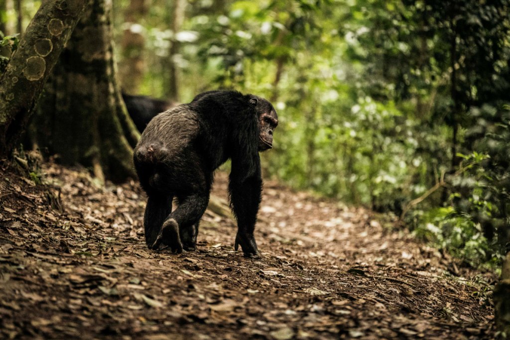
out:
M30 21L0 78L0 159L11 153L24 131L86 3L86 0L43 2Z

